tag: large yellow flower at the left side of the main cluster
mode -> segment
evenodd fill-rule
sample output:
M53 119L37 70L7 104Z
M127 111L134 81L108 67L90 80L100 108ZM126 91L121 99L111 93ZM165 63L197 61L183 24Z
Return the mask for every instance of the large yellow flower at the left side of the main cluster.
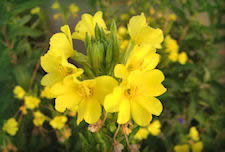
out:
M71 33L68 25L61 27L63 33L57 33L50 40L50 50L41 57L41 66L48 73L41 84L52 87L60 83L67 76L80 76L82 69L77 68L67 61L73 55L73 45Z

